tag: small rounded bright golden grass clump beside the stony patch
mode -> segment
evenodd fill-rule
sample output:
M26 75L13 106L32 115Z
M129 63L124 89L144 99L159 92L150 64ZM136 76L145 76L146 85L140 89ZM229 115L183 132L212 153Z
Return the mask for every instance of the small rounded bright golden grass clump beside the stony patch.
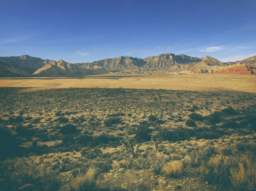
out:
M165 174L169 177L180 177L183 174L183 164L180 161L166 163L163 167Z

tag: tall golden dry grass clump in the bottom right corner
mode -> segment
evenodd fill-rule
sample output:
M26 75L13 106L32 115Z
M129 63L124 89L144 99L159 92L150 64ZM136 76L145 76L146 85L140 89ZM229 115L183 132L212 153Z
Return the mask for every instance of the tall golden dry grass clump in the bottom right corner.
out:
M256 163L247 160L245 164L239 163L238 168L231 168L231 184L238 191L256 189Z

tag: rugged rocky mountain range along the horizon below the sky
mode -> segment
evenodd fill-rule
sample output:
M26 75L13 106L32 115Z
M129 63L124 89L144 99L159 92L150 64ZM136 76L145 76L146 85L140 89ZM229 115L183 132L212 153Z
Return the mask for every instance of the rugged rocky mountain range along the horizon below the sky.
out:
M241 61L223 63L209 56L197 58L189 57L185 54L175 55L167 53L145 59L118 57L94 62L71 64L63 60L43 60L41 58L23 55L18 57L0 57L0 77L76 77L111 72L115 72L118 75L152 75L156 72L176 72L179 74L210 73L205 71L213 71L218 69L218 67L226 67L230 70L232 66L239 68L242 66L244 67L244 65L248 66L249 68L245 67L243 68L243 71L247 69L248 71L253 71L253 69L256 68L256 56ZM210 70L211 68L215 69ZM232 69L230 71L232 71ZM237 73L239 74L239 72ZM246 72L243 72L241 74L245 73ZM247 72L246 74L249 73ZM251 75L253 75L253 73L251 73Z

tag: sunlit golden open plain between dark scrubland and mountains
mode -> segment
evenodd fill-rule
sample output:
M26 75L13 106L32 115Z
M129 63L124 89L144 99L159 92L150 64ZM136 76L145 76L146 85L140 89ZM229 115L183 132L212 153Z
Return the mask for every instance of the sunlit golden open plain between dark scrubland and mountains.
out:
M121 77L114 74L81 78L2 78L0 87L129 88L256 93L256 77L233 74L159 75Z

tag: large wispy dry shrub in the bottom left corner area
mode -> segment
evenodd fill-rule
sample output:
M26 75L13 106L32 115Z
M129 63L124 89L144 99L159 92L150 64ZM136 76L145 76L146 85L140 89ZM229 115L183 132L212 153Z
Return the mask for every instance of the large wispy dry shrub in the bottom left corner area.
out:
M14 165L11 179L19 187L33 184L40 190L58 190L61 185L59 170L39 157L20 158Z

